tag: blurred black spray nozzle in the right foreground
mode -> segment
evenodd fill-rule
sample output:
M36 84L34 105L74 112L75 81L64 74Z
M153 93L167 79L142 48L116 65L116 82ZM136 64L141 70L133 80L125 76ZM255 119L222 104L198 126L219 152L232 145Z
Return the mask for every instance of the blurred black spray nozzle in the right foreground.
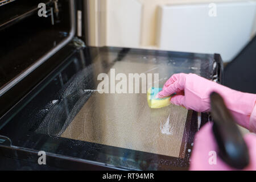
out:
M230 167L245 168L249 164L249 152L235 119L220 94L210 94L210 105L218 155Z

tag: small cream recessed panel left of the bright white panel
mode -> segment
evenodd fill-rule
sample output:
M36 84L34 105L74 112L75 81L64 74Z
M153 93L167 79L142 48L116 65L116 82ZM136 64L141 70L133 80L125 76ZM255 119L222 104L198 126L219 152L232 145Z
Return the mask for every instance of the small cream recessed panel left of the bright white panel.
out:
M108 1L106 23L106 42L108 46L140 46L141 9L142 5L137 0Z

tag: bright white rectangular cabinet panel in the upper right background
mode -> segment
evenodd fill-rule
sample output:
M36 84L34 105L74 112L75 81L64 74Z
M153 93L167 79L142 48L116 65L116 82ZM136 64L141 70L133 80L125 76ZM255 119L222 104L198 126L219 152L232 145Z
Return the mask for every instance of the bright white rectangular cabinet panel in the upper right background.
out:
M220 53L232 60L250 40L255 3L160 6L156 46L160 49Z

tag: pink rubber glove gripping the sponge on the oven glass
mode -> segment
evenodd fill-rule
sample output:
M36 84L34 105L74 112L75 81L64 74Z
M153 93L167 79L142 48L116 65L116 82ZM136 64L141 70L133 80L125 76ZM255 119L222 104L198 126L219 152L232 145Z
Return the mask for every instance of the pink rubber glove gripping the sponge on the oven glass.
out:
M179 73L164 84L158 97L171 98L171 103L198 112L210 111L210 93L219 93L239 125L256 132L256 94L238 92L198 75Z

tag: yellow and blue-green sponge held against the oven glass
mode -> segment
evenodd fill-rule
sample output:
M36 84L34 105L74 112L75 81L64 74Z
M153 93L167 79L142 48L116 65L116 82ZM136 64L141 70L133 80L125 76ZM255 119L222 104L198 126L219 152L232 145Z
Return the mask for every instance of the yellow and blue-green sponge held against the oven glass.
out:
M164 97L164 98L155 98L156 94L160 92L162 88L154 88L151 87L147 90L147 104L152 109L157 109L161 107L165 107L170 105L170 97Z

